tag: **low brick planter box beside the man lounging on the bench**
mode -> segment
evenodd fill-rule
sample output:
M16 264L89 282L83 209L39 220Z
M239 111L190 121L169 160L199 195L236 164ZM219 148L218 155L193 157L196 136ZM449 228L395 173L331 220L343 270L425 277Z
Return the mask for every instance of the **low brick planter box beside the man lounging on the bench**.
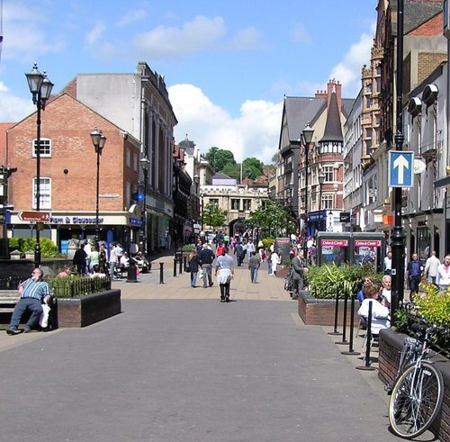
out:
M121 291L108 290L80 298L57 298L55 310L53 314L57 328L86 327L121 313Z

